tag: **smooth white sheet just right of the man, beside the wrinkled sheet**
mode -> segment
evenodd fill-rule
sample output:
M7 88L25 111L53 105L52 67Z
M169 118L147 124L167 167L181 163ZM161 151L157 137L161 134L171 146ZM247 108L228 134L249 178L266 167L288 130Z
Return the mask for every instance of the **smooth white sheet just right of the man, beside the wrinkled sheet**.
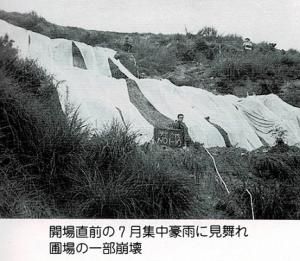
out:
M146 98L163 114L176 118L185 115L194 140L208 147L225 146L219 131L205 120L222 127L232 145L252 150L262 145L254 129L237 110L237 97L217 96L193 87L177 87L167 80L140 80L138 84Z

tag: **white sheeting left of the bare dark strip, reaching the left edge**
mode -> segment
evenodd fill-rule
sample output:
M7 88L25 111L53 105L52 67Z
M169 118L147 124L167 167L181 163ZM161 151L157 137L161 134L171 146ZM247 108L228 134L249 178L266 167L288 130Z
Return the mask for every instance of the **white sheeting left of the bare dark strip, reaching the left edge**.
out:
M54 39L18 28L0 20L0 35L7 33L22 57L37 60L48 73L53 74L60 84L59 95L62 107L68 99L79 107L80 117L92 128L101 128L113 118L134 123L139 131L140 141L149 141L153 136L150 125L130 102L126 81L111 78L108 58L115 51L107 48L93 48L74 42L80 49L88 70L73 67L72 41Z

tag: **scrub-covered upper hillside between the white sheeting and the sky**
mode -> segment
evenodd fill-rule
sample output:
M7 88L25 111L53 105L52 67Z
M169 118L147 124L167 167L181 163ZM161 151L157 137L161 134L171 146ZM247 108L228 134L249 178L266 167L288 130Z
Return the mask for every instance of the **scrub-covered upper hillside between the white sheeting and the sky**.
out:
M273 44L262 42L254 44L253 52L245 53L241 36L220 35L210 27L186 35L124 34L59 26L35 12L0 11L0 19L50 38L112 48L122 52L122 61L127 63L130 55L123 52L123 43L125 35L129 35L136 61L136 65L131 63L131 72L136 76L168 78L176 85L241 97L253 92L274 93L300 107L300 54L296 50L278 50Z

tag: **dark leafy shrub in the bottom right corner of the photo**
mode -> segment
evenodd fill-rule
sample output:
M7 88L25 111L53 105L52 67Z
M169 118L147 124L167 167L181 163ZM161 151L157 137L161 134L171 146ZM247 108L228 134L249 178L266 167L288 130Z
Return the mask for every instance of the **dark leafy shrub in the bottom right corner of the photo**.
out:
M257 180L247 186L235 188L231 195L222 199L218 208L233 218L252 218L250 195L252 195L255 219L298 219L299 188L276 180Z

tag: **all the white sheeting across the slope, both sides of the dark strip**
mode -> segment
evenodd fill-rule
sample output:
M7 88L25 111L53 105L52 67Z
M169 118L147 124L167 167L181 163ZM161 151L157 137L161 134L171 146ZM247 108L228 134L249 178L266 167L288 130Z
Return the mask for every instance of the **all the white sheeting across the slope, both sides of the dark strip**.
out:
M72 41L49 39L0 20L0 35L7 33L15 41L20 56L36 59L60 84L62 107L71 103L79 107L82 119L101 129L113 118L130 122L142 136L141 142L153 136L151 126L130 102L126 82L111 77L110 58L127 77L136 80L144 96L165 116L175 119L185 115L194 141L207 147L225 146L224 138L210 121L223 128L234 146L247 150L262 146L262 140L273 145L274 130L285 131L290 145L300 144L300 109L286 104L276 95L238 98L214 95L194 87L178 87L168 80L137 79L119 60L115 51L91 47L73 41L82 53L87 70L73 66Z

